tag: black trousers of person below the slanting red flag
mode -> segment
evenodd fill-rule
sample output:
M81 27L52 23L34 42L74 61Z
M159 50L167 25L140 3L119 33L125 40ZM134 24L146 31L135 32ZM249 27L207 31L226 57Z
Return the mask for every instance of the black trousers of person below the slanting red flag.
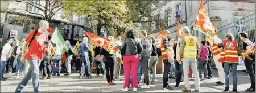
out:
M115 65L115 62L106 62L105 61L106 79L107 79L108 83L113 82L113 80L114 80L114 65Z

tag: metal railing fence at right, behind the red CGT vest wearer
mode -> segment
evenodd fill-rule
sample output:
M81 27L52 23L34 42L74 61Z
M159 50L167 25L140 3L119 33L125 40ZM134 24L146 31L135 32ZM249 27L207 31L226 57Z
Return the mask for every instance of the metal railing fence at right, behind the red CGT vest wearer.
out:
M248 33L248 39L255 42L256 30L255 30L255 11L253 12L237 12L232 15L231 19L222 20L217 24L218 37L222 40L226 39L227 33L232 33L235 41L238 43L238 50L242 50L242 41L240 40L238 33Z

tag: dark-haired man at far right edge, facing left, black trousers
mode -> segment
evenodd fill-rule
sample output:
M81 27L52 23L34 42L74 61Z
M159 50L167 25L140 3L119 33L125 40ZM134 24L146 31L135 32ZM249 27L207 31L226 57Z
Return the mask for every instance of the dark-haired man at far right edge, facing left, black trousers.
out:
M255 48L247 36L246 32L239 33L239 37L243 41L242 59L245 61L245 67L251 79L251 87L245 91L253 92L255 91Z

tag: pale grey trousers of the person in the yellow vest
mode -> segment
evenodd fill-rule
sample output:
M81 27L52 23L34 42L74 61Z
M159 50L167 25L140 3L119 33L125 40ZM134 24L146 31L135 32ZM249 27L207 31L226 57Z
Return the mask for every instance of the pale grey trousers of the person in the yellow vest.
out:
M200 83L199 83L199 73L197 70L197 65L196 65L196 58L183 58L183 71L184 71L184 85L187 89L191 89L191 85L189 83L189 67L192 68L193 74L195 76L194 83L195 83L195 89L199 90Z

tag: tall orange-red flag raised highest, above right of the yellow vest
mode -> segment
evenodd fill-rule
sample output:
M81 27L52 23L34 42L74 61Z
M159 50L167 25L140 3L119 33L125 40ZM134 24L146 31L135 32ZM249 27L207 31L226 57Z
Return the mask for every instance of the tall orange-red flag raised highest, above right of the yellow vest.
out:
M210 21L209 16L205 11L202 0L199 6L199 11L197 12L195 26L193 29L199 30L200 32L204 33L212 39L215 36L212 22Z

